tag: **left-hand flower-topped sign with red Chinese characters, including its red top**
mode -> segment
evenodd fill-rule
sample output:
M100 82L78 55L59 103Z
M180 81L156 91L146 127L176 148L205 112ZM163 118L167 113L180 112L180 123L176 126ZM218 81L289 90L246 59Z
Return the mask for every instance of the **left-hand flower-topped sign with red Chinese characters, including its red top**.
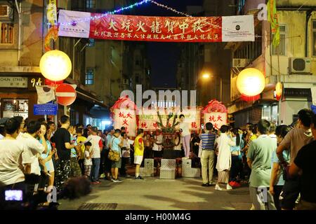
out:
M115 129L125 127L126 134L136 137L138 119L136 116L137 107L129 97L121 97L111 108L111 118Z

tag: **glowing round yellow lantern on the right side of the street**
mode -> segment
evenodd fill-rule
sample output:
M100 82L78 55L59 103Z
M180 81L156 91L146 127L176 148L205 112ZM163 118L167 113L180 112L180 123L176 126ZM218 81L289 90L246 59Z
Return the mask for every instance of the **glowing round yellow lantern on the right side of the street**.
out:
M237 76L236 85L241 94L254 97L265 89L265 76L258 69L244 69Z

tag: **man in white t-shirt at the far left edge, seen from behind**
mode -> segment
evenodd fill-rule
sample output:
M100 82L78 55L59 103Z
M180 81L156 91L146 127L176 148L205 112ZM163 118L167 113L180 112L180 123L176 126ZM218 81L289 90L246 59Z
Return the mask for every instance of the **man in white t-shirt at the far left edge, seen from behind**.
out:
M20 123L10 118L4 126L6 137L0 141L0 203L5 201L4 190L25 190L25 174L29 174L31 163L27 149L16 140Z

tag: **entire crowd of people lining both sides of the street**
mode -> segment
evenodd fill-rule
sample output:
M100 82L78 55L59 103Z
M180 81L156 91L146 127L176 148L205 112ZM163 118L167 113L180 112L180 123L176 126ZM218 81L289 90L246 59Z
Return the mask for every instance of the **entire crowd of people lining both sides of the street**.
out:
M316 209L312 111L299 111L294 127L260 120L248 123L245 130L228 125L215 130L206 123L200 133L191 133L185 117L179 118L176 157L191 158L193 166L202 168L202 186L232 190L249 183L251 209L294 209L298 200L299 209ZM141 180L144 158L163 157L159 130L139 129L131 138L125 127L101 131L91 125L73 126L68 116L61 116L58 125L19 116L3 118L0 124L1 189L21 189L27 195L48 193L52 186L60 191L70 178L79 176L92 184L101 179L119 183L120 177L131 177L126 165L132 164L134 178ZM28 180L29 174L35 181Z

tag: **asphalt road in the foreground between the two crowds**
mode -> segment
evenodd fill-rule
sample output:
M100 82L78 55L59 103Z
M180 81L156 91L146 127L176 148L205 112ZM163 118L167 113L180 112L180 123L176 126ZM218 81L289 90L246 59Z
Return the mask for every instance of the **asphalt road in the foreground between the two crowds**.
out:
M84 203L107 204L100 210L249 210L248 186L218 191L202 187L202 179L164 180L123 179L121 183L102 181L93 191L78 200L60 200L60 210L77 210ZM99 205L100 205L99 204Z

